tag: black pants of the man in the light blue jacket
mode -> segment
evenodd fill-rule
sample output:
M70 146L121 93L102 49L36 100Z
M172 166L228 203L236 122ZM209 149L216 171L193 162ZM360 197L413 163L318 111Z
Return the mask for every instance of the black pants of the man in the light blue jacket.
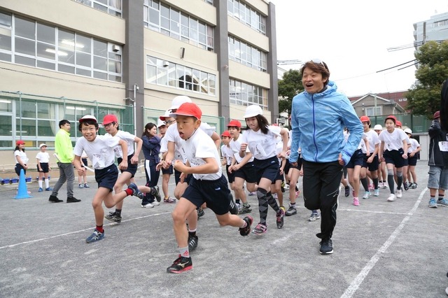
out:
M321 209L321 233L318 238L329 239L336 225L337 197L342 178L338 162L303 161L303 199L309 210Z

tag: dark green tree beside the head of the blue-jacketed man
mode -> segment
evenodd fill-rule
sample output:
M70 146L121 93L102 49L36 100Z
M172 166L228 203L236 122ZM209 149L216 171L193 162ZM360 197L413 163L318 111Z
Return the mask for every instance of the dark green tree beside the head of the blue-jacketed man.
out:
M279 113L291 113L293 106L293 97L295 94L304 90L302 85L302 76L300 71L290 69L283 73L283 77L279 80Z

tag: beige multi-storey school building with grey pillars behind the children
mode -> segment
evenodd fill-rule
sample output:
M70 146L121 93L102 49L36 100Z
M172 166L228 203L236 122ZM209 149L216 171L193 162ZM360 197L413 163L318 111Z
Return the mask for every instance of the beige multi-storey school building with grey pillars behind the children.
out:
M141 135L177 95L218 132L250 104L275 122L276 71L267 0L2 0L0 164L18 139L31 164L39 143L51 152L62 119L74 143L86 114Z

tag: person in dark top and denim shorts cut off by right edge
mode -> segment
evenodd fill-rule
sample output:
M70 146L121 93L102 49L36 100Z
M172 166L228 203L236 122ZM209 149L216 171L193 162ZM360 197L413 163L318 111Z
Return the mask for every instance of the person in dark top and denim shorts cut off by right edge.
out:
M448 141L447 131L440 127L440 111L434 113L433 123L428 134L430 136L428 160L430 200L428 206L430 208L437 208L437 205L448 207L448 200L444 199L445 190L448 189ZM439 197L435 201L437 190Z

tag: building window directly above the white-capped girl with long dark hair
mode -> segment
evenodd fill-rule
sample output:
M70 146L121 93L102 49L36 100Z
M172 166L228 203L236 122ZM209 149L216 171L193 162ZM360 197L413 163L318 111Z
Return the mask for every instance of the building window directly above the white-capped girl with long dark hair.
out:
M231 79L229 82L230 104L237 104L239 106L258 104L263 109L267 110L267 92L267 89L250 85L239 80Z

